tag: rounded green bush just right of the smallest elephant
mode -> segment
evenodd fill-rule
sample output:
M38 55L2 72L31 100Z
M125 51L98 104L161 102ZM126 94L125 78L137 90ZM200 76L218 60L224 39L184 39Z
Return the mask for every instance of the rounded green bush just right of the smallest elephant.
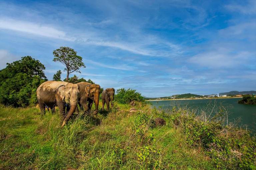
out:
M136 90L130 88L127 90L125 90L124 88L118 89L116 91L115 100L121 104L129 104L131 103L131 101L145 103L145 99L143 98L143 96L141 96L139 92L136 92Z

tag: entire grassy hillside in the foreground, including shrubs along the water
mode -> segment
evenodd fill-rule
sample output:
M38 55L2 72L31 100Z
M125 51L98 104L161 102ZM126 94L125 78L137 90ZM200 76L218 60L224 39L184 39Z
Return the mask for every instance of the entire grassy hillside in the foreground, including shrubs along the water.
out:
M77 114L60 128L58 114L41 119L38 108L0 105L0 169L255 168L255 138L221 128L220 117L207 122L186 108L168 114L141 104L129 114L129 108ZM156 117L166 126L155 126Z

